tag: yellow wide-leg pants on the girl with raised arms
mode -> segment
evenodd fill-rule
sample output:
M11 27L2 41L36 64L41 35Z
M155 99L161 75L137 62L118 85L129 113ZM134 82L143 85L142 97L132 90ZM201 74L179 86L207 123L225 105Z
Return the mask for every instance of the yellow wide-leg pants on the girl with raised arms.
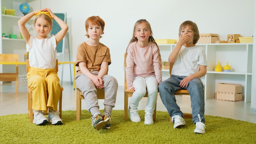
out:
M28 87L32 92L32 109L57 111L60 99L60 79L56 69L42 69L30 67L27 74Z

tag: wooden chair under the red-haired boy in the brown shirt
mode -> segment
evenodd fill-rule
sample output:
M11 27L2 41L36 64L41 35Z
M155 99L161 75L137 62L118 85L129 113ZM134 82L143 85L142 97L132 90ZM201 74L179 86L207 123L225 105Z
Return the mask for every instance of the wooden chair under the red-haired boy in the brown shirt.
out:
M97 88L97 98L105 99L105 92L103 89ZM81 100L84 99L84 95L79 88L76 88L76 120L80 120L81 116Z

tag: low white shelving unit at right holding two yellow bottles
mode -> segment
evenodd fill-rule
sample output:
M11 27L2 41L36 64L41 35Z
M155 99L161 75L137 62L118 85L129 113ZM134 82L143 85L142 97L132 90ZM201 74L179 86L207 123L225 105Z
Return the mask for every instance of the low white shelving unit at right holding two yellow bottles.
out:
M168 61L176 44L158 44L162 61ZM202 77L204 98L213 98L218 83L242 84L244 102L251 101L252 90L252 43L196 44L202 46L207 56L207 73ZM220 62L222 67L231 66L231 72L215 72ZM169 70L162 70L163 80L170 77ZM167 73L167 74L166 74Z

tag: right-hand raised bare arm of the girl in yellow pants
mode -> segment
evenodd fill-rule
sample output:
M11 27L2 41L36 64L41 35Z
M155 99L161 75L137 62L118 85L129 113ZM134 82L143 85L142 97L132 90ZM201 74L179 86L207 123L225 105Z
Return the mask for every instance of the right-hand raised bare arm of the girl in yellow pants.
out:
M57 45L66 36L66 33L68 32L68 25L63 20L58 18L58 16L52 13L52 11L49 8L46 8L46 10L50 12L52 18L56 20L56 22L60 25L61 28L61 30L55 35Z

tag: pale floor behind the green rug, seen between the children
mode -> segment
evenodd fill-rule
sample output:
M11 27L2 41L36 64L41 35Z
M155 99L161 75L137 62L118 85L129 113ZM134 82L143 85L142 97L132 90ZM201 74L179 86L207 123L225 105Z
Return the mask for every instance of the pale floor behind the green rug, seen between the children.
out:
M62 110L76 110L76 91L74 90L73 85L71 85L70 82L63 82L63 88ZM176 100L182 112L191 113L190 98L186 96L176 96ZM103 109L103 100L99 100L99 104L100 109ZM142 98L139 104L139 109L143 110L145 104L146 98ZM250 105L250 102L230 102L210 98L205 100L205 115L221 116L256 123L256 114L249 112ZM82 100L82 109L86 109L84 100ZM113 110L124 110L123 86L119 86L118 88L116 106ZM156 110L167 111L162 104L160 96L158 96L157 99ZM6 82L1 84L0 116L25 113L28 113L26 84L19 84L18 94L15 94L15 84Z

